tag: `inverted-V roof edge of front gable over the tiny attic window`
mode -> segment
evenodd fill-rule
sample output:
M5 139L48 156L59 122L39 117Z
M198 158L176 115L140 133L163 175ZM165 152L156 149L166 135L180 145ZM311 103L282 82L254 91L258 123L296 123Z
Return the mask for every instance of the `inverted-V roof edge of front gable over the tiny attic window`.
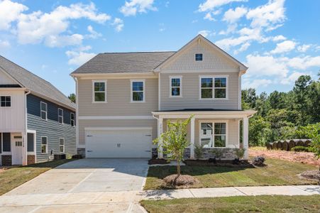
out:
M205 43L209 44L212 48L214 48L214 50L217 50L219 53L221 53L222 55L224 55L226 58L228 58L228 60L231 60L231 62L235 63L236 65L238 65L240 67L240 71L245 71L248 70L248 67L246 67L245 65L243 65L243 63L239 62L238 60L236 60L236 58L233 58L231 55L229 55L228 53L226 53L226 51L222 50L221 48L219 48L217 45L215 45L214 43L211 42L211 40L205 38L203 35L199 34L196 37L194 37L192 40L190 40L186 45L184 45L182 48L180 48L180 50L177 50L177 52L175 54L172 54L169 58L167 58L165 61L161 62L160 65L158 65L157 67L155 67L155 71L160 71L160 67L162 67L163 65L165 65L167 62L170 62L171 60L174 60L176 57L179 56L179 54L181 52L183 52L184 50L186 50L190 45L192 45L192 43L197 42L199 40L203 40Z

